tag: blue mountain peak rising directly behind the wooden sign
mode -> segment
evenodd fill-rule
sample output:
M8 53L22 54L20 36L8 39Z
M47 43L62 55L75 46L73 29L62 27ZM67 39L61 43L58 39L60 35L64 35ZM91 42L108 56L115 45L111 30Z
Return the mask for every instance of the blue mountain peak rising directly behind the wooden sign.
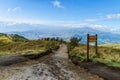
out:
M120 34L100 31L100 30L96 30L96 29L93 29L93 28L90 28L90 27L73 29L72 32L71 32L71 34L73 34L73 36L78 36L78 37L81 36L83 43L86 43L88 33L90 35L98 34L98 43L99 44L120 43L120 37L119 37Z

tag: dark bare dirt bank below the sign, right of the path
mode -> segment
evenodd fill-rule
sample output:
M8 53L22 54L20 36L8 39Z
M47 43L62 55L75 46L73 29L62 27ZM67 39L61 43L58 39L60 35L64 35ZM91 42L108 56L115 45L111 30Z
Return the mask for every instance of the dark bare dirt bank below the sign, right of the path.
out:
M120 80L120 68L107 66L106 64L100 62L81 62L76 56L70 58L74 64L86 69L92 74L97 74L103 77L104 80Z

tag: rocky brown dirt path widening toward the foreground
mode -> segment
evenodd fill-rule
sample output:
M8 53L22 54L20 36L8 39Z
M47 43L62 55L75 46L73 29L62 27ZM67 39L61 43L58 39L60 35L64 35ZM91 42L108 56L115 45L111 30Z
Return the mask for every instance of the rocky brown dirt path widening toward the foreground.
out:
M39 58L9 66L0 66L0 80L103 80L75 66L67 56L66 45Z

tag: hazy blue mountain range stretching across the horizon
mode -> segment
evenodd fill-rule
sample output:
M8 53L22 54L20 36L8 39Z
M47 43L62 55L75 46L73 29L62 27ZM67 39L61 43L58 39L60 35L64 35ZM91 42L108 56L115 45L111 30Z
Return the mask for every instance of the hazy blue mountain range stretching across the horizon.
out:
M120 34L112 32L100 31L91 27L83 28L69 28L69 29L38 29L24 32L10 32L12 34L19 34L28 39L38 39L43 37L62 37L69 40L71 37L82 37L82 43L86 43L86 36L98 34L98 43L120 43Z

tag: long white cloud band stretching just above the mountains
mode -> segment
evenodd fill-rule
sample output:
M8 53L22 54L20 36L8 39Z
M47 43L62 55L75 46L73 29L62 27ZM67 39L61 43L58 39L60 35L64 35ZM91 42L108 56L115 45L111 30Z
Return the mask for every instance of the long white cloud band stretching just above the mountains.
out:
M45 25L45 26L52 26L52 27L66 27L66 28L83 28L83 27L90 27L92 29L101 30L105 32L112 32L112 33L119 33L120 28L112 28L107 25L102 24L91 24L85 22L78 22L78 21L44 21L44 20L28 20L28 19L0 19L0 26L14 26L19 24L29 24L29 25Z

